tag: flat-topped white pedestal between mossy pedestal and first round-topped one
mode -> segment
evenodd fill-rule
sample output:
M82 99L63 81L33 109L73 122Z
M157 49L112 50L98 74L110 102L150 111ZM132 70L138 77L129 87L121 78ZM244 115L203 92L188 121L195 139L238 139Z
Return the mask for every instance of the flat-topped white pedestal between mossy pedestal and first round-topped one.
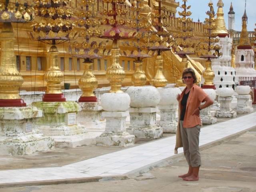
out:
M105 127L100 122L102 113L100 102L81 102L78 104L81 111L78 112L77 122L84 125L87 131L103 132Z

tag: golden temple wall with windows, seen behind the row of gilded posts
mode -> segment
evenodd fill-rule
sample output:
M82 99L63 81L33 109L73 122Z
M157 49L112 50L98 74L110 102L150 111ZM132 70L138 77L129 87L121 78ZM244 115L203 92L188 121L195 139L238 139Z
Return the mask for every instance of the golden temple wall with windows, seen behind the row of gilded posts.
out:
M152 2L152 1L151 1ZM150 3L149 3L150 4ZM76 7L77 2L74 0L70 6ZM106 5L98 4L97 10L105 8ZM174 0L168 1L166 3L166 8L168 14L170 15L167 19L170 23L168 30L179 33L177 30L177 26L180 25L178 19L175 18L176 8L178 3ZM30 24L13 24L14 33L16 36L15 43L15 54L17 56L17 66L18 70L21 72L24 83L22 84L22 90L33 90L34 87L36 90L44 90L46 86L46 81L44 80L44 72L48 68L49 65L49 56L47 50L50 48L50 45L44 44L42 42L33 41L29 38L29 32L31 31ZM198 37L202 37L204 30L202 23L193 22L192 27L195 32L195 40ZM1 28L1 25L0 25ZM82 39L80 39L82 40ZM79 41L79 40L78 40ZM192 40L193 41L193 40ZM111 44L111 43L110 43ZM74 58L72 55L68 53L69 42L58 45L59 50L59 67L63 70L65 79L62 84L71 83L71 88L78 87L78 79L83 74L84 66L82 64L82 59ZM122 49L122 45L120 45ZM172 58L172 59L171 59ZM144 61L144 70L147 73L148 80L152 78L154 74L154 60L155 58L149 58ZM177 73L181 72L179 68L179 62L181 59L171 53L164 53L164 74L167 80L170 83L175 82L175 78ZM202 73L203 67L200 62L195 62L194 60L190 60L190 64L197 71L198 77ZM29 65L30 64L30 65ZM120 65L124 67L126 72L126 78L124 79L123 85L128 86L131 85L131 77L134 73L134 63L130 58L120 57ZM106 57L100 60L94 60L94 74L98 79L99 87L108 86L108 80L106 79L106 68L110 66L110 58Z

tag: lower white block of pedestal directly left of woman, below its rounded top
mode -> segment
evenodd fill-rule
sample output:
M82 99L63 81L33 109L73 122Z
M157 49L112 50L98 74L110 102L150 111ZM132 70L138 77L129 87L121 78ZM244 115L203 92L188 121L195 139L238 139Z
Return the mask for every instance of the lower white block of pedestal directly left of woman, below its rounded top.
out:
M157 125L163 129L164 133L176 133L178 123L175 120L175 113L177 108L177 105L158 106L160 122Z

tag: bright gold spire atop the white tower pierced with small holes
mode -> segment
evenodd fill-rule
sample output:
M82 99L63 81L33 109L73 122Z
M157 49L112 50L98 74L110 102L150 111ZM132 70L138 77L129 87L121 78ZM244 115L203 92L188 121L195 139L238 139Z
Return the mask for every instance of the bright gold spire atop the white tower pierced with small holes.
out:
M222 2L222 0L218 1L217 6L218 6L218 12L217 12L217 18L215 20L216 28L212 31L212 33L219 37L225 37L228 35L228 30L226 29L226 23L224 20L224 12L223 12L224 3Z

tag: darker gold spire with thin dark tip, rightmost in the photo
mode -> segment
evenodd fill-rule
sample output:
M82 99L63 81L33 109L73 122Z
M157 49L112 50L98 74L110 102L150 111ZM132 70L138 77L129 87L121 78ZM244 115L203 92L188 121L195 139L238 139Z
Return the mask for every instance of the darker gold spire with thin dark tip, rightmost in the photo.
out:
M242 32L240 34L240 42L238 49L251 49L251 42L250 38L248 36L248 31L247 31L247 20L248 17L246 15L246 10L244 10L244 15L242 16Z

